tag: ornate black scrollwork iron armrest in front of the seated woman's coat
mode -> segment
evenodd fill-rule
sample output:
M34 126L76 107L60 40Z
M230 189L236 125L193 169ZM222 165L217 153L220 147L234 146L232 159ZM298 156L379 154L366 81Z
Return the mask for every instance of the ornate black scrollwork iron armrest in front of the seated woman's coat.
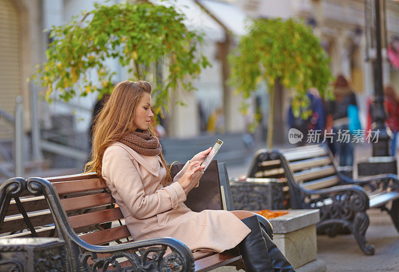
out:
M174 267L171 271L194 270L194 256L191 250L184 243L170 237L148 239L116 246L90 245L80 239L73 231L55 187L50 182L41 178L29 178L27 180L27 189L32 195L45 196L60 235L65 240L65 243L69 244L69 247L67 247L68 250L73 251L68 252L68 254L71 256L79 255L79 260L74 260L72 266L79 266L80 269L83 270L88 269L89 265L87 264L87 261L90 258L94 262L92 268L94 270L106 269L110 264L115 265L118 268L119 262L116 259L125 257L132 265L143 270L151 270L151 267L153 269L167 269ZM79 247L86 250L86 252L79 254ZM168 247L172 250L172 253L164 258L163 256ZM129 250L137 251L140 248L147 248L141 251L141 256L137 255L135 252L127 252ZM98 258L97 253L111 253L111 256ZM149 256L150 253L155 254ZM153 260L148 261L148 256L152 257Z

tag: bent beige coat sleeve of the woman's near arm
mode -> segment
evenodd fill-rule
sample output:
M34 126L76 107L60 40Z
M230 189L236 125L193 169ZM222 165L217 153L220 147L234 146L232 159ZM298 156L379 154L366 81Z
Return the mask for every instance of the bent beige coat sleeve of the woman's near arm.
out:
M106 149L102 173L115 186L126 207L137 219L176 209L179 203L186 201L186 193L179 182L165 186L155 193L146 194L140 174L129 153L119 146Z

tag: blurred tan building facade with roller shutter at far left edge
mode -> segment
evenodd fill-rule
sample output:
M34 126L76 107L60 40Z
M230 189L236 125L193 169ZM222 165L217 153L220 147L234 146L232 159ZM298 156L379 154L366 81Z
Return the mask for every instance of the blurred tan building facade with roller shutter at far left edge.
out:
M0 110L14 115L17 96L24 108L25 129L30 129L29 77L43 60L40 0L0 0ZM0 117L0 141L14 136L13 125Z

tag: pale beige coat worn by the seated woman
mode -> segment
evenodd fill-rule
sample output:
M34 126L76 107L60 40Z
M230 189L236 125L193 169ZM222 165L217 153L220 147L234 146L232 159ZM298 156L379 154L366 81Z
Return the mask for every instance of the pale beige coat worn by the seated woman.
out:
M120 206L135 241L174 237L191 250L222 252L235 247L250 229L225 210L194 212L183 202L178 181L188 167L163 186L166 170L159 156L144 156L116 142L105 150L102 176Z

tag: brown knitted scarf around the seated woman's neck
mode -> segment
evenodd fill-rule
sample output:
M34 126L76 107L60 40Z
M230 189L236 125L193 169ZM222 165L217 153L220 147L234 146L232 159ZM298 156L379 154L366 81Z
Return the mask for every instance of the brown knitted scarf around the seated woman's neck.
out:
M161 144L157 137L150 134L150 131L133 131L125 134L119 139L119 142L127 145L140 155L155 156L162 152Z

